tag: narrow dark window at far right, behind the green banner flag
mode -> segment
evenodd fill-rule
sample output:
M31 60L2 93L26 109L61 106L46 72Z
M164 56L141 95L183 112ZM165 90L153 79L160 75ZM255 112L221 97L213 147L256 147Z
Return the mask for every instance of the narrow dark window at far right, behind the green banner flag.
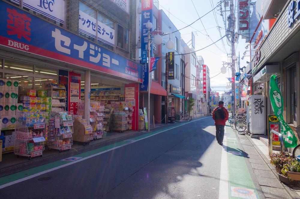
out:
M287 71L289 75L289 122L292 124L297 123L297 68L292 67ZM289 104L289 105L288 105Z

